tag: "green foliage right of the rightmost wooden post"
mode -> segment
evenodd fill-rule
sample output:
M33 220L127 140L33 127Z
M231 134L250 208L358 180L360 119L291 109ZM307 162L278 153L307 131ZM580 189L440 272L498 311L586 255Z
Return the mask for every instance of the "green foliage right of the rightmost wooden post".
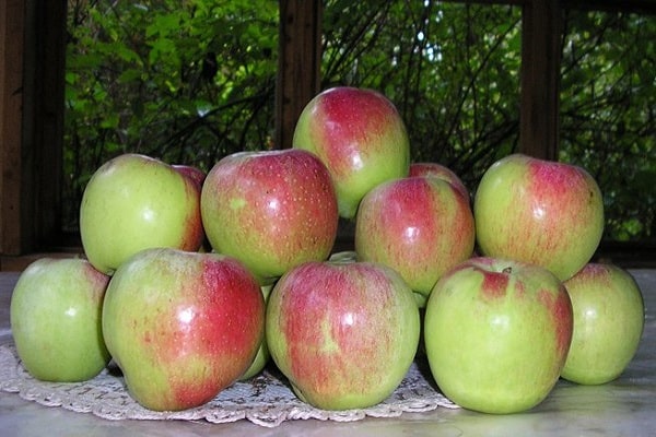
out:
M570 12L563 38L560 160L587 168L606 237L656 238L656 20Z

